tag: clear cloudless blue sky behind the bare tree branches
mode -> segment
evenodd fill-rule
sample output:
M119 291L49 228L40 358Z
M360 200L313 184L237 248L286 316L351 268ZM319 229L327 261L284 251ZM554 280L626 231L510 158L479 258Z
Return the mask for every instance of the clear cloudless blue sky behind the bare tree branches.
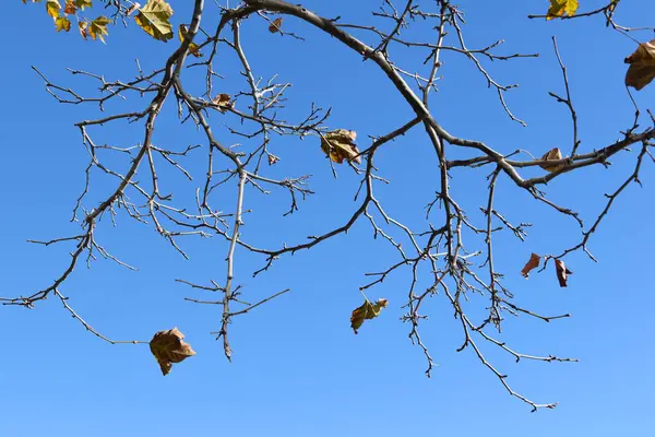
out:
M69 221L83 188L86 152L73 122L98 115L96 108L58 105L31 66L52 81L92 92L93 83L71 76L64 68L128 80L135 74L134 58L146 71L158 68L177 45L176 40L154 42L134 25L111 28L107 45L83 42L73 33L56 34L43 4L5 3L0 17L5 47L0 69L4 99L0 122L2 296L29 294L49 285L68 262L69 247L44 248L28 245L26 239L78 231L78 224ZM325 16L341 15L344 22L369 20L369 11L380 3L306 2ZM528 149L543 154L556 145L568 147L569 116L547 95L548 91L562 92L552 34L558 35L570 71L581 150L602 147L629 126L632 109L623 87L623 58L634 50L633 42L607 29L600 19L567 23L527 20L528 13L546 11L546 0L460 3L467 12L464 29L469 46L505 39L501 52L537 51L541 56L487 63L498 80L521 84L508 95L508 103L528 128L508 120L495 92L486 90L484 79L466 59L446 56L440 92L432 97L434 113L446 129L484 140L502 152ZM581 9L603 3L581 0ZM655 4L646 0L626 3L617 16L621 23L655 24ZM191 2L174 0L171 4L175 23L187 20ZM209 10L215 14L214 8ZM207 14L205 20L211 28L216 15ZM243 45L259 75L279 73L281 80L294 83L288 119L302 117L311 102L332 106L330 126L356 130L361 144L367 143L367 135L386 133L409 119L408 108L371 64L302 23L288 19L285 27L307 42L271 35L260 19L250 19L243 24ZM647 32L639 35L642 40L650 36ZM396 56L398 64L409 70L420 68L422 59L422 55L412 57L404 50ZM226 75L224 90L234 93L243 85L238 66L231 55L224 62L219 68ZM655 85L635 95L645 109L653 102ZM183 149L201 142L202 137L191 127L177 125L171 104L157 127L155 143ZM126 105L139 108L143 101ZM110 105L107 110L119 109ZM225 142L237 141L222 128L222 119L215 117L214 122ZM95 134L98 142L128 146L141 140L138 132L117 125ZM392 215L409 223L422 216L421 208L434 191L437 167L430 149L417 131L379 154L381 175L393 182L380 189L380 200ZM273 152L283 158L274 168L276 175L312 174L318 193L301 204L299 214L282 218L285 193L264 198L249 191L246 204L255 213L247 217L245 237L262 246L301 241L350 215L357 178L340 168L340 179L334 181L317 141L276 140ZM588 223L603 208L603 193L632 170L634 154L617 156L611 172L599 168L558 178L548 194L575 205ZM118 160L114 164L118 168L127 165ZM498 240L497 264L507 274L505 284L521 304L544 314L573 315L548 324L508 320L502 339L525 353L574 356L580 363L515 364L497 351L486 351L509 374L516 390L536 402L559 402L553 411L529 414L529 408L508 395L471 350L455 352L462 334L444 296L433 297L426 307L430 319L422 326L422 336L439 364L427 379L422 355L410 345L408 327L398 320L407 272L368 293L370 298L389 298L390 307L354 335L348 318L361 303L357 288L366 281L364 273L389 265L393 255L382 243L370 239L365 223L347 236L281 260L257 279L250 273L262 260L238 253L237 283L245 286L246 298L257 300L286 287L293 292L235 319L230 327L235 354L229 364L221 344L210 335L219 328L219 308L183 302L184 296L211 296L174 282L177 277L222 281L224 241L183 240L191 256L186 262L151 227L121 216L117 228L103 223L98 237L140 271L96 262L90 271L80 268L62 292L108 336L150 340L155 331L177 326L198 356L162 377L147 346L112 346L99 341L55 298L39 303L34 310L0 307L4 332L0 436L652 435L655 234L650 217L655 181L653 163L646 160L644 164L644 187L629 188L591 244L599 262L580 255L568 258L575 272L568 288L557 285L550 269L527 282L519 271L532 251L556 253L573 243L575 225L533 205L509 184L500 182L504 190L498 197L498 210L516 222L535 224L524 245L509 236ZM188 165L201 180L202 152ZM477 223L483 223L477 206L481 205L486 174L486 169L478 170L468 177L465 172L453 172L453 193L472 209ZM192 194L199 184L180 186L175 174L166 176L170 179L165 187L179 187L181 199ZM146 177L143 172L142 178ZM112 182L98 178L87 206L111 190ZM234 187L219 198L224 202L217 200L223 210L233 208L233 194Z

